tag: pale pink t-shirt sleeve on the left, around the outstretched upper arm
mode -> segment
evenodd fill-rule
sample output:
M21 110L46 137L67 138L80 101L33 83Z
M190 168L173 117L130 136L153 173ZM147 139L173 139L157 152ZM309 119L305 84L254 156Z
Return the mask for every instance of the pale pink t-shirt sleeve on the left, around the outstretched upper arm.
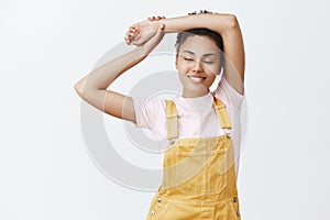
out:
M153 130L160 119L165 117L165 105L162 98L132 98L135 110L136 127Z

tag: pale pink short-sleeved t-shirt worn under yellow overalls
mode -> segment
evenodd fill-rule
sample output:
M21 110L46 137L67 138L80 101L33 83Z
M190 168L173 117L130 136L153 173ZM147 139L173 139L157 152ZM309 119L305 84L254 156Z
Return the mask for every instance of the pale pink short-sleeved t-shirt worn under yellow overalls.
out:
M232 123L232 139L234 145L235 173L237 179L240 163L241 144L241 107L244 96L234 90L230 84L222 77L213 96L220 99L226 106ZM186 138L211 138L223 135L224 131L218 121L217 113L213 110L213 97L209 92L206 96L197 98L184 98L177 96L173 98L178 112L178 139ZM136 127L150 130L154 139L157 140L158 150L167 148L166 139L166 116L165 98L133 98L136 114ZM161 154L161 163L164 154Z

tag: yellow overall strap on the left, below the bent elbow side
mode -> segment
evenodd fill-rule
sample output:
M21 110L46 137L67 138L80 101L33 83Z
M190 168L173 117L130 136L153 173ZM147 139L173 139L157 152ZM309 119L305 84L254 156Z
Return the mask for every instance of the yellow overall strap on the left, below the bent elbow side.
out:
M165 100L165 105L167 139L176 139L178 136L176 106L172 100Z

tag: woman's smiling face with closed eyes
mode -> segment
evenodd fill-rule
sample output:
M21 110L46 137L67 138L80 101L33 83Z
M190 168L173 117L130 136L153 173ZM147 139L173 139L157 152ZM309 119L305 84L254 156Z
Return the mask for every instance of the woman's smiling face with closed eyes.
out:
M184 97L204 96L220 73L220 50L208 36L194 35L180 45L176 68Z

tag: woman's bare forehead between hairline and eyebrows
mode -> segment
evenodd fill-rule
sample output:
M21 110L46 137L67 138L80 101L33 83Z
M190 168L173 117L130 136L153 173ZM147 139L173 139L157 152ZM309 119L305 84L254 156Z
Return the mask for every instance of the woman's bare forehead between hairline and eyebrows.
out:
M179 48L179 53L193 52L197 55L215 54L219 55L220 50L215 40L208 36L193 35L186 38Z

